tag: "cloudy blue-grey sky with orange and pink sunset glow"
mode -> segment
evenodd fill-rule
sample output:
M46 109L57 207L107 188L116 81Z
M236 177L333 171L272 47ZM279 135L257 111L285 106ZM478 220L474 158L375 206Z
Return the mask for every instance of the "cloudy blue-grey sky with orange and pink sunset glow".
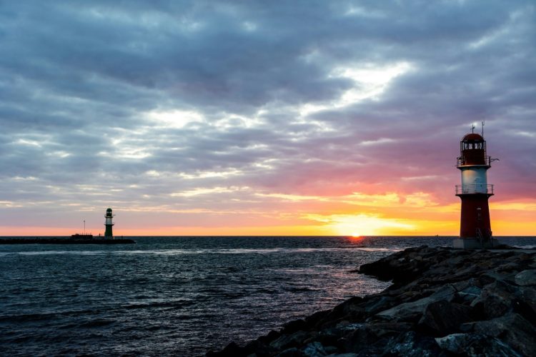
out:
M536 235L536 3L1 1L0 236Z

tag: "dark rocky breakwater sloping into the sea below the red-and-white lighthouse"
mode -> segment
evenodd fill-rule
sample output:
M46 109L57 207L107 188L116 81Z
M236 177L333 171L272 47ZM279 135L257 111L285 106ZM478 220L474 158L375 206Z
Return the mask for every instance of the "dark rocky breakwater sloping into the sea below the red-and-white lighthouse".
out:
M359 273L392 286L207 356L536 356L536 251L421 246Z

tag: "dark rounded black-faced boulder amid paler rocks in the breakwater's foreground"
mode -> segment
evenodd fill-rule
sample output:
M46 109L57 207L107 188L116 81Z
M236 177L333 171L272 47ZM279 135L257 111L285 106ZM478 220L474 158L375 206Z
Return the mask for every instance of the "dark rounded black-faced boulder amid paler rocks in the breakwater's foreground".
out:
M440 300L426 306L418 326L432 336L445 336L457 331L461 323L470 321L470 316L469 306Z

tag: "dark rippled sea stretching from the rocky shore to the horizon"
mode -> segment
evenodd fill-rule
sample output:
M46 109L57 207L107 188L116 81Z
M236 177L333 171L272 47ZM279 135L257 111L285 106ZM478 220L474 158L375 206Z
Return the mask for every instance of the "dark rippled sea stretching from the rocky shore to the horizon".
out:
M125 238L0 245L0 356L203 356L382 291L361 264L454 237Z

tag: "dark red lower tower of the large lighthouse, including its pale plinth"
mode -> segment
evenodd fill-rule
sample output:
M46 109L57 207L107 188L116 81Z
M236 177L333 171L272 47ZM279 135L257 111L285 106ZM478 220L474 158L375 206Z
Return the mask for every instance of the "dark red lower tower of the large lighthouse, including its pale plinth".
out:
M454 248L491 248L498 244L492 237L490 208L487 199L492 193L458 194L462 199L460 239L453 242Z

